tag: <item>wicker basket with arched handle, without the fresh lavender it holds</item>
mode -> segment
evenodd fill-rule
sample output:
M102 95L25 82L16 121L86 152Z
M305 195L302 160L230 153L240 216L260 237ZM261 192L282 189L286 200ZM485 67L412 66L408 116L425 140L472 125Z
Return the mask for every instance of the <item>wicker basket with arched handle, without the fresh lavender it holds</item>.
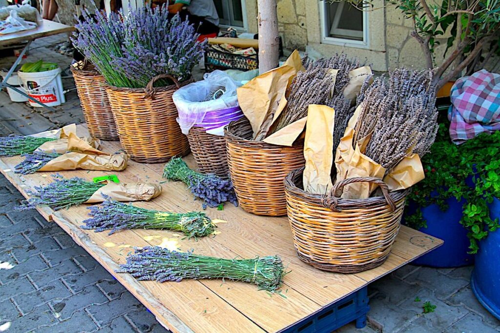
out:
M161 78L169 78L175 85L153 88ZM153 77L145 89L106 86L121 146L131 159L160 163L189 153L187 137L175 120L177 109L172 94L190 82L192 79L179 84L172 76L161 74Z

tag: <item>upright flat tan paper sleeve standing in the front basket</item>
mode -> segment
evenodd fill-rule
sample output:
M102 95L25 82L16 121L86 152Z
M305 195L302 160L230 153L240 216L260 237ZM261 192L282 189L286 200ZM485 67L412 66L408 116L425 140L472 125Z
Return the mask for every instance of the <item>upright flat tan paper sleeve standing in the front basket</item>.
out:
M304 140L305 168L302 175L305 192L325 194L332 186L330 173L334 123L335 111L331 107L309 105Z

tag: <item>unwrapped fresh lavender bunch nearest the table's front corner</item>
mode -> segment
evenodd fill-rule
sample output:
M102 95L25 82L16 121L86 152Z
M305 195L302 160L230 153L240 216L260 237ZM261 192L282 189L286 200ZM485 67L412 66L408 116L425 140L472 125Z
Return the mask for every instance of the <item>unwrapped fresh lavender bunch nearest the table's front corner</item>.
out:
M278 256L254 259L222 259L169 251L160 247L135 249L120 265L117 273L129 273L139 281L158 282L182 279L229 279L258 286L259 290L275 292L281 287L285 274Z

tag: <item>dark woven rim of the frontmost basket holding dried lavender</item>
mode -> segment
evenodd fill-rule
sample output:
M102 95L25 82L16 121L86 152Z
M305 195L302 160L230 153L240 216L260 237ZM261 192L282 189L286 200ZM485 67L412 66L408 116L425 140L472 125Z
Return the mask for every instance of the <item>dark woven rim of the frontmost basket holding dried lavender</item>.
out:
M309 193L305 192L303 189L299 188L296 185L296 179L302 175L302 172L304 171L305 167L300 167L298 169L290 171L286 177L283 180L284 184L284 189L285 192L288 194L290 192L293 192L296 196L302 197L302 199L308 203L312 203L315 205L319 205L321 207L325 207L323 205L324 198L326 195L324 194L319 194L319 193ZM396 191L391 191L389 192L390 198L394 201L397 202L409 193L409 189L405 190L396 190ZM367 199L342 199L342 198L337 198L337 205L336 207L339 209L353 209L359 206L388 206L387 202L385 201L385 198L383 196L377 196L377 197L369 197Z

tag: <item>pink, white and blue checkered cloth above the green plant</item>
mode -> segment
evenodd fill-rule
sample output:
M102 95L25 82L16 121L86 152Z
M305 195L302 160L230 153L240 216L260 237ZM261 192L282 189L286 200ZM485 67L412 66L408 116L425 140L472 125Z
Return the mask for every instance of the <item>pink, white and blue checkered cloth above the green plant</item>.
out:
M456 144L500 130L500 74L481 69L451 88L449 135Z

